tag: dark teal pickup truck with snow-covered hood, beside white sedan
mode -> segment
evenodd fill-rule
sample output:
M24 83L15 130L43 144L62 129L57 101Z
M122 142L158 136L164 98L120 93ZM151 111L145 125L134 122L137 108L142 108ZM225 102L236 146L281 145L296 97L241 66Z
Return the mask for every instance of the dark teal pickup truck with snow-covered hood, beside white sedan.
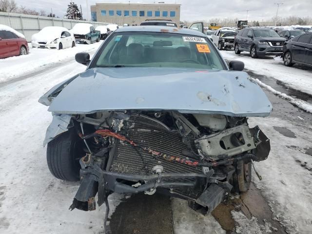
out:
M101 37L101 32L96 31L91 23L77 23L70 32L74 34L76 43L80 44L99 42Z

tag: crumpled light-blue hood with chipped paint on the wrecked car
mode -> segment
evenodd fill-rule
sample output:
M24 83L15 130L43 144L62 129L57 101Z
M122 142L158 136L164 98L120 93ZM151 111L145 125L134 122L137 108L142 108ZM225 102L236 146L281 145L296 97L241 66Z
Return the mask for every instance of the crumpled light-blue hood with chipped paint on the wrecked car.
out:
M249 117L268 116L272 104L245 72L121 67L86 70L49 107L59 114L130 109Z

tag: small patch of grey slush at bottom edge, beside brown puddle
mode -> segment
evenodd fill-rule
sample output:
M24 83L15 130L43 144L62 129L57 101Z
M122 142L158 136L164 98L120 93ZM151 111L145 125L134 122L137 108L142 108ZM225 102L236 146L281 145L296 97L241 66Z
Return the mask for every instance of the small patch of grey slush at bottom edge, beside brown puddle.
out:
M271 223L265 222L265 226L258 223L256 217L248 219L242 212L231 211L232 217L238 226L235 232L238 234L271 234Z

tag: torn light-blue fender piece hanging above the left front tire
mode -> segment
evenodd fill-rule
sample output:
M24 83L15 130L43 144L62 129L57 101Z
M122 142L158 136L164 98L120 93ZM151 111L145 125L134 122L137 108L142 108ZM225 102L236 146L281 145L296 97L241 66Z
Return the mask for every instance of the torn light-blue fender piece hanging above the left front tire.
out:
M70 125L71 118L71 115L53 116L52 122L50 123L45 134L43 146L45 146L59 134L68 131L68 126Z

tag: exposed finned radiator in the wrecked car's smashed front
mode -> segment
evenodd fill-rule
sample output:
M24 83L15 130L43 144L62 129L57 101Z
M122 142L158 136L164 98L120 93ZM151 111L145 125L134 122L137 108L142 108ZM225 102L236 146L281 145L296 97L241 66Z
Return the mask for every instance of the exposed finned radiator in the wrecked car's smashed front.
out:
M127 120L127 137L142 146L155 151L186 158L182 155L183 150L191 151L194 147L194 138L190 139L191 144L183 143L182 137L177 131L171 132L166 126L142 116L131 117ZM138 149L143 156L148 167L148 173L143 169L144 164L137 151L128 143L119 142L110 171L148 175L152 173L152 168L162 165L164 173L202 173L201 167L189 166L180 163L166 161L162 158L155 159L152 155Z

